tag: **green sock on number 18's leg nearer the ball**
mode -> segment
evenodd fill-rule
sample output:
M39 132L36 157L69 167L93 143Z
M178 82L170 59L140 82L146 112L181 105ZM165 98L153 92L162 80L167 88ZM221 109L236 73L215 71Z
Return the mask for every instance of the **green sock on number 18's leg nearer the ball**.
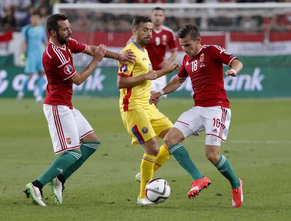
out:
M186 170L192 180L202 179L203 175L199 172L199 170L194 165L193 161L191 160L188 151L183 147L181 143L176 143L172 147L168 148L170 153L176 158L178 163Z

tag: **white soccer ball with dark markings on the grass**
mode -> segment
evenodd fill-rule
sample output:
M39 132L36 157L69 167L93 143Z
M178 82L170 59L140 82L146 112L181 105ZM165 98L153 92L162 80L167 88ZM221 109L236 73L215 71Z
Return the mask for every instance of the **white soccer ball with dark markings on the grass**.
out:
M153 203L161 204L170 196L171 188L167 181L154 178L148 181L145 191L147 199Z

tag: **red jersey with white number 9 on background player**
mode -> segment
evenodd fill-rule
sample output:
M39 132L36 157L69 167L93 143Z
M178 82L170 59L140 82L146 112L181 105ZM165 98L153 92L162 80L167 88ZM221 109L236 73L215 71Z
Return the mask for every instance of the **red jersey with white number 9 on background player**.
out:
M133 36L131 36L130 40L133 40ZM146 45L146 50L153 70L162 69L159 65L164 60L167 46L169 46L171 51L178 50L174 31L163 25L162 29L159 31L153 29L152 37Z

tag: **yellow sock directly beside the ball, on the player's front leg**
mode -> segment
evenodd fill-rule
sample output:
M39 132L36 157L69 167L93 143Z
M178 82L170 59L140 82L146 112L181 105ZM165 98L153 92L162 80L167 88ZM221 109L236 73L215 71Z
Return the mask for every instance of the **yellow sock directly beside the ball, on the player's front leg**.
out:
M139 198L143 199L146 196L145 188L149 180L153 178L154 165L157 157L144 153L141 163L141 190Z

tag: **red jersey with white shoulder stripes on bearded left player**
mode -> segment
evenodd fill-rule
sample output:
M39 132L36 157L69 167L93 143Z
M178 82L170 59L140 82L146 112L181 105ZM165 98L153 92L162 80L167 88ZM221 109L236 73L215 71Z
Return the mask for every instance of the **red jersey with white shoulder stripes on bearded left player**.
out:
M87 45L70 38L65 48L60 48L49 40L43 53L42 63L48 79L45 104L65 105L73 108L73 82L68 79L77 71L73 67L73 53L87 50Z

